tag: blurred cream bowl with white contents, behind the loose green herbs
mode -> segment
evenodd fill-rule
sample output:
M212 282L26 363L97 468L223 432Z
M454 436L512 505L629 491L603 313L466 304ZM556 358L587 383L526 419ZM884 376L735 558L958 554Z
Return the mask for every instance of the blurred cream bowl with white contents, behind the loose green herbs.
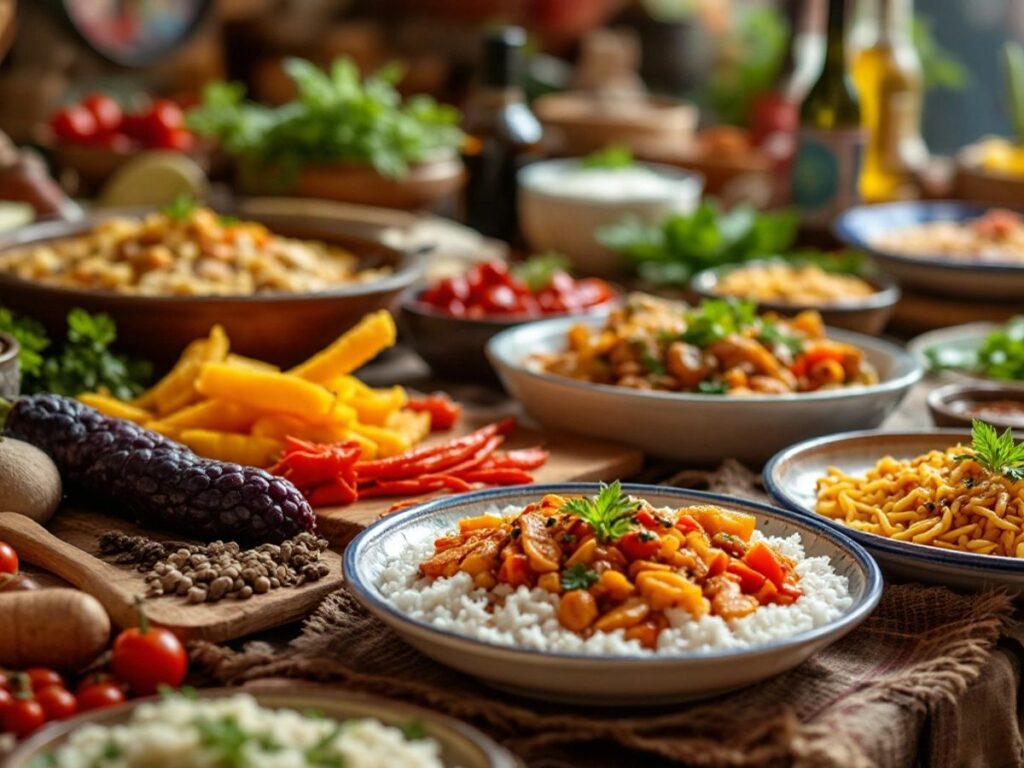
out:
M597 242L597 230L629 216L656 224L673 213L690 213L700 200L703 179L699 174L672 166L637 163L660 179L665 188L640 193L628 188L598 194L597 186L577 186L579 160L545 160L519 171L519 223L530 248L538 253L565 254L581 274L615 276L628 263ZM613 173L590 171L589 173ZM559 188L565 178L571 188Z

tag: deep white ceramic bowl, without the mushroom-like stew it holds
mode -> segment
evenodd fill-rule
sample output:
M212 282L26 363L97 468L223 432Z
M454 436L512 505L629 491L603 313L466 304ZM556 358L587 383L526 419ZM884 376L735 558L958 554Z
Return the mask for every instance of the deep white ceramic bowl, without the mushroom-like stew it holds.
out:
M600 328L604 322L570 317L519 326L495 336L487 356L505 389L552 431L601 437L689 464L732 458L760 466L799 440L876 427L922 376L921 364L899 347L835 329L828 329L829 338L864 350L879 384L730 397L591 384L544 373L528 361L537 352L564 349L571 326Z

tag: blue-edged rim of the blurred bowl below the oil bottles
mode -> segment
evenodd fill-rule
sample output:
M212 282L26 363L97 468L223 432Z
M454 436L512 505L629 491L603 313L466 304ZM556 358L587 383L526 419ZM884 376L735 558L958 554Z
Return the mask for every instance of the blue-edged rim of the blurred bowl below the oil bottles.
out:
M903 210L919 210L928 213L927 216L913 217L914 221L910 222L911 224L922 224L930 221L963 221L964 219L980 216L994 207L1006 208L1006 206L985 206L978 203L956 200L856 206L848 209L836 219L836 223L833 225L833 232L848 246L868 251L879 259L896 261L907 266L928 266L936 269L949 269L961 272L979 271L1014 275L1022 274L1024 273L1024 263L1020 265L993 263L991 261L965 263L956 262L952 259L939 259L930 256L907 256L906 254L893 253L892 251L882 251L864 240L861 237L859 228L854 223L863 217L886 216L894 211Z

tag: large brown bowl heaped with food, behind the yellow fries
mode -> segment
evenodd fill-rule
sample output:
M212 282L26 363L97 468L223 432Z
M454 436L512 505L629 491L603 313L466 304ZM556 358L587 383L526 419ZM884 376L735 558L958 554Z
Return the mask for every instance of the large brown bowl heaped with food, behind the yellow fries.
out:
M390 307L422 266L303 211L175 206L23 227L0 238L0 305L51 333L75 307L106 312L118 345L158 365L215 324L240 354L296 362Z

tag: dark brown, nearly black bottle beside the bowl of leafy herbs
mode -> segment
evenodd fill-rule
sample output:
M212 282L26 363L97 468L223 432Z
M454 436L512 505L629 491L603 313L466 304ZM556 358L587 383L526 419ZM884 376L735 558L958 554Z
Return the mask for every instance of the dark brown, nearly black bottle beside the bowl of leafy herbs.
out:
M543 131L522 90L526 33L502 27L486 34L480 82L464 109L466 223L492 238L519 240L516 173L536 159Z

